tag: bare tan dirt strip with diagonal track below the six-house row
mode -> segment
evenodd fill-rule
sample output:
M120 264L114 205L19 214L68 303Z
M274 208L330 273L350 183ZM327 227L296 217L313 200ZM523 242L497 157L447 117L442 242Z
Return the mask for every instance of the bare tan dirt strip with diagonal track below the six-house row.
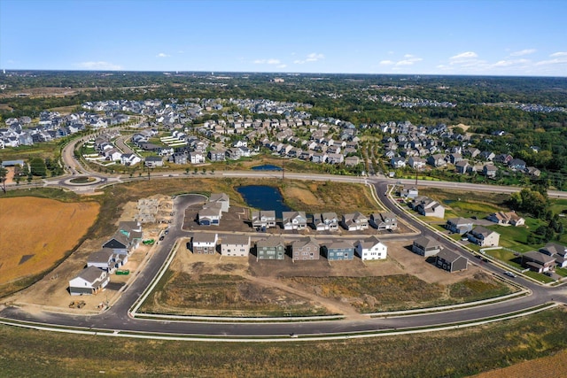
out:
M466 271L449 274L425 262L424 258L408 250L410 242L388 243L388 258L385 260L330 262L326 258L319 260L292 262L289 256L284 260L257 261L252 254L248 258L227 258L220 254L194 255L184 246L189 239L179 243L182 247L177 252L171 269L190 274L198 280L201 274L234 275L263 288L278 289L289 295L290 301L303 297L311 303L326 308L328 313L341 313L349 319L364 317L346 300L323 297L314 290L295 284L285 278L290 277L365 277L413 274L428 283L448 285L464 279L472 279L479 272L478 267L470 266ZM282 296L280 296L282 297ZM284 296L283 296L284 297ZM159 304L163 308L162 304ZM175 311L179 312L179 308ZM198 311L201 313L202 311ZM196 313L188 310L188 313ZM209 312L213 313L213 312ZM206 314L206 312L202 312Z

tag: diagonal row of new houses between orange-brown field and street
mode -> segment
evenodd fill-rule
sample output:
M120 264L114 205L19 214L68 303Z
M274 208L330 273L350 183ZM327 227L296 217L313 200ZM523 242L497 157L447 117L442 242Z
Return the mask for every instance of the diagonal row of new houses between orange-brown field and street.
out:
M110 274L128 262L128 256L142 241L142 226L139 222L120 222L116 233L106 241L99 251L87 259L87 267L69 281L72 296L97 294L110 282Z

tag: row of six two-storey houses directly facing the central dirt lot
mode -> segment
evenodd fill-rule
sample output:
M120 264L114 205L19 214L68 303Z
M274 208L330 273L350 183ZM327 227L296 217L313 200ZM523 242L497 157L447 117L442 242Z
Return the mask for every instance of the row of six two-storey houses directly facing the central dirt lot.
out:
M216 254L232 257L248 257L252 249L249 235L218 235L198 233L192 237L193 253ZM362 260L384 259L388 248L376 237L369 236L354 243L340 240L319 243L315 237L304 237L286 243L282 236L271 235L256 242L257 259L283 260L289 252L293 261L317 260L323 256L330 261L352 260L354 255Z

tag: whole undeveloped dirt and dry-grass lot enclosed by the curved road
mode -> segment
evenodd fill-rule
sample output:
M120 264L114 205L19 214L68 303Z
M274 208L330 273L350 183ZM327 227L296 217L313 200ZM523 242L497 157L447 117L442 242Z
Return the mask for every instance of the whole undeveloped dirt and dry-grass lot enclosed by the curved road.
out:
M389 301L386 306L404 308L406 305L403 303L392 305L400 294L391 288L392 285L405 291L403 294L407 292L406 302L409 306L416 306L420 301L418 298L425 295L428 296L428 303L449 299L446 288L455 282L480 280L494 284L476 266L454 274L439 270L409 251L407 247L410 242L388 243L389 257L381 261L362 262L360 258L355 258L352 261L330 262L320 258L295 263L289 256L283 261L257 261L252 254L248 258L227 258L220 254L194 255L185 248L188 242L189 239L179 243L181 247L170 266L171 274L164 289L151 297L151 302L143 311L274 316L281 315L280 312L285 309L293 315L311 311L342 313L351 319L360 319L360 311L381 308L379 295L363 293L367 286L374 288L376 294L376 285L385 286L387 283L389 292L394 294L382 299ZM384 277L392 279L384 281ZM330 283L323 286L319 282L329 280ZM384 284L380 283L381 280ZM341 287L340 282L343 281L350 283ZM411 288L404 289L404 284ZM337 295L327 293L328 285L339 290ZM354 294L350 293L353 286L358 287Z

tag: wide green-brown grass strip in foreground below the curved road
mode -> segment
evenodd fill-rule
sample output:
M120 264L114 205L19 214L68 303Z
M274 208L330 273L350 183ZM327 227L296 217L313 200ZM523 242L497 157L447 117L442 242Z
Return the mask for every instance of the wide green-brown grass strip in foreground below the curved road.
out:
M0 341L5 376L458 377L567 348L567 314L555 309L475 328L317 343L137 340L6 326Z

